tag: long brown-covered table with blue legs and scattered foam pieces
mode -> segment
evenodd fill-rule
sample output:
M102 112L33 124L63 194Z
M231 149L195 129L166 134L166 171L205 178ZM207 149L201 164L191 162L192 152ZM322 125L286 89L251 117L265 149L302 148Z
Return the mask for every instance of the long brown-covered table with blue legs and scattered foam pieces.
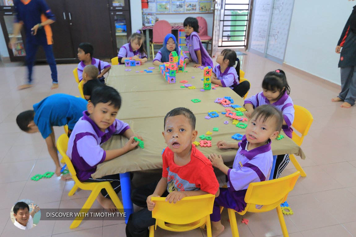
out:
M149 66L149 63L147 63L136 67L136 69L142 71L142 69ZM125 71L127 68L129 67L124 65L112 66L106 83L121 93L122 106L117 118L129 123L133 131L143 137L145 148L136 148L111 161L101 163L92 177L99 178L104 175L120 173L122 202L128 218L133 208L130 199L130 172L162 168L161 153L166 147L162 137L163 118L171 109L187 107L192 110L197 118L196 129L199 133L198 136L205 134L207 131L213 132L210 135L212 137L212 146L199 147L199 150L204 155L219 153L223 156L224 162L233 161L236 150L218 149L216 142L219 140L234 141L231 136L235 133L244 134L245 129L232 125L232 119L221 114L226 108L221 104L214 103L216 98L229 96L234 99L234 104L242 106L243 99L230 88L218 87L215 90L200 91L203 87L203 83L200 80L203 77L203 70L192 68L188 65L188 72L182 72L182 75L186 78L185 80L196 87L195 89L187 89L180 88L183 84L178 80L176 84L168 84L163 75L158 75L160 74L158 67L151 69L153 72L149 73L150 75L142 72L145 76L132 70ZM198 76L194 76L195 78L193 79L191 78L193 75ZM199 75L201 75L201 78ZM200 99L201 102L193 103L192 99ZM229 109L231 111L234 110L231 107ZM205 116L208 115L209 111L219 112L219 117L206 119ZM225 121L229 123L225 124ZM213 128L219 128L219 131L215 132ZM196 141L200 141L199 137L197 137ZM105 142L103 148L105 150L120 148L126 142L127 139L122 136L113 136ZM272 141L272 152L273 155L295 154L305 159L300 147L287 136L284 136L282 140Z

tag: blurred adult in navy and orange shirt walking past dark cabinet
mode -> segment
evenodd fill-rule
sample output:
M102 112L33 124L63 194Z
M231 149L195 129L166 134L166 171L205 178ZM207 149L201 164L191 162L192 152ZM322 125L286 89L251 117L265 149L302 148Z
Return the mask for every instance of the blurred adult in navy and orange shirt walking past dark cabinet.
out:
M52 50L52 30L49 26L56 18L44 0L14 0L17 12L14 22L14 35L16 36L23 25L26 34L26 65L28 69L28 82L19 87L24 89L32 86L32 69L36 53L40 45L46 53L47 62L51 68L52 87L58 88L57 66ZM16 37L10 41L10 48L13 47Z

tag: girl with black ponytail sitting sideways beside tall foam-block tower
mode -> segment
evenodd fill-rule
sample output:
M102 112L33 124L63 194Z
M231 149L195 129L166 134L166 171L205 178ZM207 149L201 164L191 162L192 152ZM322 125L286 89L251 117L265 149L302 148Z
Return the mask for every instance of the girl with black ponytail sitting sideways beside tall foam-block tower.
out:
M234 68L237 61L236 68ZM224 49L216 58L216 65L213 68L211 75L211 82L223 87L230 87L237 95L244 97L248 90L250 90L250 83L248 81L240 81L240 60L237 58L235 51L231 49Z

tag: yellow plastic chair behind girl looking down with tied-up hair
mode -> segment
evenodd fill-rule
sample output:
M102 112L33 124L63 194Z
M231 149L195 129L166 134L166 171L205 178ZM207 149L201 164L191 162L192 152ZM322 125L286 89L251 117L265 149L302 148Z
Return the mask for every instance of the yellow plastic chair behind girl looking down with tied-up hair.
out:
M293 128L297 130L302 136L299 136L294 131L292 132L292 140L298 145L302 145L304 136L308 134L309 128L313 123L313 115L308 111L308 109L294 104L294 121ZM293 154L289 155L289 160L292 161L295 168L300 171L300 176L305 177L307 174L304 172L303 168L299 165L299 162Z

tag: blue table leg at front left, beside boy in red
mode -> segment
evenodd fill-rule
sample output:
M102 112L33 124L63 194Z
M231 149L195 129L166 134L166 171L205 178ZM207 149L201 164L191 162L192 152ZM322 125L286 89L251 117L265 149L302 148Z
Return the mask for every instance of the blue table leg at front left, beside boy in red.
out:
M124 205L124 211L126 213L125 222L129 220L129 216L133 210L133 204L131 201L131 178L130 172L120 174L122 205Z

